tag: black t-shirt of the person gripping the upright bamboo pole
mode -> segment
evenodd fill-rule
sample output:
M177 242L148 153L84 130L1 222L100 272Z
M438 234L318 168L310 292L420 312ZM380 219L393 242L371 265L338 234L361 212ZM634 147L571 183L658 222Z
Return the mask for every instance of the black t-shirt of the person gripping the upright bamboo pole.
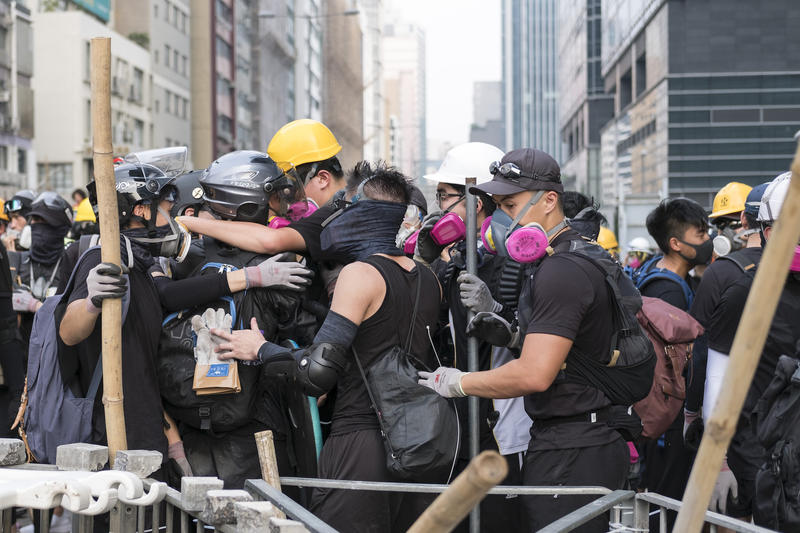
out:
M124 255L123 252L123 260ZM87 252L84 261L77 266L69 301L56 309L56 327L60 328L69 303L86 298L86 278L99 263L100 250L97 249ZM167 439L164 436L163 409L156 376L161 304L158 291L146 272L138 267L132 268L129 283L130 303L122 325L122 393L128 448L156 450L163 453L166 459ZM61 374L78 396L85 396L100 358L101 321L101 317L98 317L89 337L75 346L67 346L59 339ZM106 442L102 394L101 385L92 414L92 441L98 444Z

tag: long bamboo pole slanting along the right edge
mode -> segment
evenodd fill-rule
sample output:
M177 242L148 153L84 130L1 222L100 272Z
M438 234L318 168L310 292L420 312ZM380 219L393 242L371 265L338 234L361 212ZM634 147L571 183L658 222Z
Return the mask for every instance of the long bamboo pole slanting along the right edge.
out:
M783 202L733 339L730 363L717 404L706 424L703 440L683 495L674 531L700 531L714 483L736 431L747 390L753 380L767 334L800 238L800 147L792 162L792 180Z

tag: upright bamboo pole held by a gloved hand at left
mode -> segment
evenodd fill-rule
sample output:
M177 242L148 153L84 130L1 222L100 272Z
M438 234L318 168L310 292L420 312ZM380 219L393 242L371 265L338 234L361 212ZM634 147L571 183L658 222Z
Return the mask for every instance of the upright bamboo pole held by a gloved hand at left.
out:
M111 39L91 41L92 148L100 222L100 256L120 264L119 214L111 145ZM117 451L128 449L122 396L122 300L106 298L100 315L103 332L103 406L108 457L113 466Z

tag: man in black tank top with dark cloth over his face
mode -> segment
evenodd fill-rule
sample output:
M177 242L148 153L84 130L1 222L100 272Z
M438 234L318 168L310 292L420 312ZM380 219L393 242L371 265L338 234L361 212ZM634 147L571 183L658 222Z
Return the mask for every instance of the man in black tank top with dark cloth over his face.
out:
M403 256L394 240L409 202L408 187L400 172L366 162L349 176L350 204L328 220L321 236L326 259L346 266L312 346L287 352L266 342L257 326L231 334L212 330L228 341L219 347L220 358L258 360L266 374L283 373L315 396L338 387L331 436L319 459L321 478L398 481L386 468L378 420L352 348L368 367L402 345L417 303L410 351L431 368L438 365L428 328L439 314L439 282L430 269ZM341 531L383 533L406 531L431 501L433 495L318 489L310 509Z

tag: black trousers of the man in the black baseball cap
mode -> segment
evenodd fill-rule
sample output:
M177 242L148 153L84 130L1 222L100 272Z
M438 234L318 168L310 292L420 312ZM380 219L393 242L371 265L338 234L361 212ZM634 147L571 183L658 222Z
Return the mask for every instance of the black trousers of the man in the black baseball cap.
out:
M625 486L630 452L622 438L610 444L528 452L522 478L528 486L593 485L612 490ZM527 531L538 531L598 496L523 496ZM580 533L608 531L608 518L600 516L575 529Z

